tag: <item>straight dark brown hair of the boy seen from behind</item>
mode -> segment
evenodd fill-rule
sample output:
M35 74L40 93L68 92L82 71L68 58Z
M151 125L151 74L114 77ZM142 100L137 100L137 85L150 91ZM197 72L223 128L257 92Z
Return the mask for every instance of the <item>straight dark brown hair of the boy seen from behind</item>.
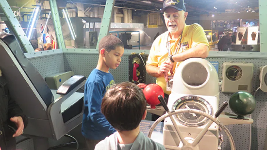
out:
M117 131L130 131L140 124L146 105L142 89L134 83L123 82L105 93L101 112Z

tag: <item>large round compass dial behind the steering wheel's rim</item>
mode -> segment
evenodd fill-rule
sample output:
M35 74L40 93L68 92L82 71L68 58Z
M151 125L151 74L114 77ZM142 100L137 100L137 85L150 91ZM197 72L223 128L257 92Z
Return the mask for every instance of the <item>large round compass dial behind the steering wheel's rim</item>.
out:
M184 96L176 100L172 110L177 109L196 109L204 111L207 114L213 115L212 106L205 99L198 96ZM177 121L189 127L202 126L207 123L208 118L194 113L179 113L175 115Z

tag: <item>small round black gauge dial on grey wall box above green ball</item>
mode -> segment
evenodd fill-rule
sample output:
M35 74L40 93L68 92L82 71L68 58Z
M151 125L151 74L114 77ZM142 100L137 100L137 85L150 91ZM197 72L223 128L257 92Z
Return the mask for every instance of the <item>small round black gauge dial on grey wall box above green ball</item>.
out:
M227 68L225 74L229 80L236 81L242 77L242 69L239 66L232 65Z

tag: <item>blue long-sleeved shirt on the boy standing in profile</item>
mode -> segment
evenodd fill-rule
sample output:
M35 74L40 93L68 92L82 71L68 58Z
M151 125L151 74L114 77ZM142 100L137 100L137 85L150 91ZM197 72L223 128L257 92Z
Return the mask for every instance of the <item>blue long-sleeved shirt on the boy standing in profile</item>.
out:
M103 140L116 130L101 113L101 102L105 92L114 84L114 77L94 69L84 85L84 115L81 126L82 135L90 140Z

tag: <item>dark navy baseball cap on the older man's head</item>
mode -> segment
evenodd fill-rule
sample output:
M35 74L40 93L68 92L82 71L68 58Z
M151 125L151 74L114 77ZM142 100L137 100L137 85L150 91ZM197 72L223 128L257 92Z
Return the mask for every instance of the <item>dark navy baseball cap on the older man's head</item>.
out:
M163 2L162 12L164 12L168 7L173 7L179 11L186 11L186 6L184 5L184 0L165 0Z

